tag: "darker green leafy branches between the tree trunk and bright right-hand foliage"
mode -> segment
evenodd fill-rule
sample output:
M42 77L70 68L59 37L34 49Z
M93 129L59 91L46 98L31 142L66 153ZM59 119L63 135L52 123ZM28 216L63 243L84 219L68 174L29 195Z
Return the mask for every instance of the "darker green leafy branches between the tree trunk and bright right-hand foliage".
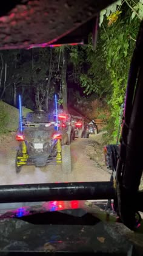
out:
M96 96L103 98L110 93L111 81L106 68L100 35L96 50L93 49L91 37L89 37L88 45L79 46L74 51L72 49L70 57L75 67L75 73L73 70L71 78L81 85L85 94L89 95L94 92Z

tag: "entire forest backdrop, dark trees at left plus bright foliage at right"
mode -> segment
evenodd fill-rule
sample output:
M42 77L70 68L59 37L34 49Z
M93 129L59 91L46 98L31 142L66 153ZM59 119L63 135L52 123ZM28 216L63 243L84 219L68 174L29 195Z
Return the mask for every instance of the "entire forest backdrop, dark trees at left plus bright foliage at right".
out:
M96 49L89 37L87 46L0 52L0 99L16 105L21 93L26 107L48 110L55 92L65 108L67 88L75 96L76 90L88 96L94 93L108 106L108 138L116 141L130 59L142 18L143 0L119 0L101 12Z

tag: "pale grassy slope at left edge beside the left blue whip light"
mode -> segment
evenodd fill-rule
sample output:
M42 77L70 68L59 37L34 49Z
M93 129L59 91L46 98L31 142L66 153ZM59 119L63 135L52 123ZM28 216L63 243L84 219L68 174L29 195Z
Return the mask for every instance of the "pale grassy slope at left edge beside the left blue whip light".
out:
M22 107L22 115L32 110ZM0 132L15 131L19 124L19 110L3 101L0 101Z

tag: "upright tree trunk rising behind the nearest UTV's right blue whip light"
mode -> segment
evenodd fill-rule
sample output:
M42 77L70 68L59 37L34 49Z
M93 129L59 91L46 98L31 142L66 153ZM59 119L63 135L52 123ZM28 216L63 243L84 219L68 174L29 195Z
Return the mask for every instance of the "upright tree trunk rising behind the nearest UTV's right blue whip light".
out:
M63 109L67 112L67 49L62 50L62 99Z

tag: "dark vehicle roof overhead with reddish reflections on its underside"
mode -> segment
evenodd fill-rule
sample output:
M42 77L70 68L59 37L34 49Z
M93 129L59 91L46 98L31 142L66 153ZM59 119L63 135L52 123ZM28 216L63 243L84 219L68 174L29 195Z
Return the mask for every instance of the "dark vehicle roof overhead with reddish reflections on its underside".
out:
M93 32L97 13L115 0L3 1L0 49L82 43Z

